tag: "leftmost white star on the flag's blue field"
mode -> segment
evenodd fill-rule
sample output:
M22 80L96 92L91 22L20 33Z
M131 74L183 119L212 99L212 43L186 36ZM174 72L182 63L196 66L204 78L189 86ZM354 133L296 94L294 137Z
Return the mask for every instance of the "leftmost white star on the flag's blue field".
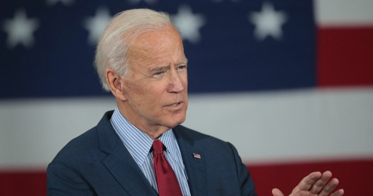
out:
M19 9L15 12L13 19L6 19L3 22L3 29L8 33L7 46L13 48L17 44L29 48L35 38L33 32L38 28L38 20L34 18L28 19L24 9Z

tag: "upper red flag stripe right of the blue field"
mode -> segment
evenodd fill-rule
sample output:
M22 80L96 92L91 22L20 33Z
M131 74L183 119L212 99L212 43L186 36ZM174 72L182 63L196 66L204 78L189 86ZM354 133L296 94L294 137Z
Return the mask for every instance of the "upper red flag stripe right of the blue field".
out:
M373 27L319 28L319 86L373 84Z

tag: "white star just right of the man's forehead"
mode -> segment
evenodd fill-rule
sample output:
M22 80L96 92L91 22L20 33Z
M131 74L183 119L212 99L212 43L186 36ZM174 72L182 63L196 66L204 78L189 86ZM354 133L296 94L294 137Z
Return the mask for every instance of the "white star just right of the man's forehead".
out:
M193 14L189 6L180 6L178 13L172 16L173 24L178 27L183 40L196 44L200 41L199 29L205 24L202 14Z

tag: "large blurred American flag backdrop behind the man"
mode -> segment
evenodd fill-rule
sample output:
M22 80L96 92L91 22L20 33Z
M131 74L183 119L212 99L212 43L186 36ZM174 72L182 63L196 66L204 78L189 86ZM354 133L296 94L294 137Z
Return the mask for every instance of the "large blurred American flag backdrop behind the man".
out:
M0 195L46 195L46 168L115 99L93 68L115 13L168 12L188 58L184 125L229 141L259 195L312 171L373 186L373 1L13 0L0 7Z

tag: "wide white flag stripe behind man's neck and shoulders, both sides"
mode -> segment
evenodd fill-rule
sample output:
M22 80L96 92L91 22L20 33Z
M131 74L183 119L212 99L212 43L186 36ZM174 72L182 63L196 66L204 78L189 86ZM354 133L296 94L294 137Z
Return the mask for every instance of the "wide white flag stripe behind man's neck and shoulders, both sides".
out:
M46 167L115 108L113 97L0 101L0 168ZM373 88L191 94L184 125L245 162L373 155Z

